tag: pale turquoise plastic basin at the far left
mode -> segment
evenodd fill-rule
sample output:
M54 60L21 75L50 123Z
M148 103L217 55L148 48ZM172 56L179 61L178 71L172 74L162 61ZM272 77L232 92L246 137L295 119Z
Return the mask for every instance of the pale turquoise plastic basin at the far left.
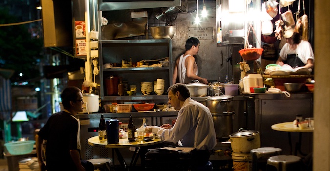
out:
M7 148L8 152L11 155L22 155L28 154L32 152L33 145L36 141L28 140L28 141L15 141L5 143L4 146Z

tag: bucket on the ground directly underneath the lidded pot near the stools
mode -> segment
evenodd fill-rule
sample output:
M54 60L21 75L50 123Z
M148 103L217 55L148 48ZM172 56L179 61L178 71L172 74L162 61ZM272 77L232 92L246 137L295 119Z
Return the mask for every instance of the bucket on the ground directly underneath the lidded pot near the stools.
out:
M233 171L252 171L252 155L250 153L232 153Z

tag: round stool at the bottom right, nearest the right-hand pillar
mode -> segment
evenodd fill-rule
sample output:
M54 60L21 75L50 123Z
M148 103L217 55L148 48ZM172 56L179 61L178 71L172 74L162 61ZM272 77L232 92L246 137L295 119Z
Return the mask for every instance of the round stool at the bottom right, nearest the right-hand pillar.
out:
M301 158L295 155L269 157L266 171L302 171Z

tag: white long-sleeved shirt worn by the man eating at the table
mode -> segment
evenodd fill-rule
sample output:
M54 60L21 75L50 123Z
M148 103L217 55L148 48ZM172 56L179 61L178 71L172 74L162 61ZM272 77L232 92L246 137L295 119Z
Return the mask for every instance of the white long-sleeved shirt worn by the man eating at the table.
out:
M154 126L153 133L163 141L198 150L212 150L217 144L210 110L191 98L184 102L171 129Z

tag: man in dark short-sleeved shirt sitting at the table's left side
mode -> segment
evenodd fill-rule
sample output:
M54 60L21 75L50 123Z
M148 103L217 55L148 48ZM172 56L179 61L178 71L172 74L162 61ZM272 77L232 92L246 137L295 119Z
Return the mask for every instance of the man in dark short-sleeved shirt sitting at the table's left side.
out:
M81 90L67 87L61 98L64 111L53 114L35 137L41 171L94 171L91 162L80 159L80 122L75 115L83 111ZM46 166L42 160L43 140L46 140Z

